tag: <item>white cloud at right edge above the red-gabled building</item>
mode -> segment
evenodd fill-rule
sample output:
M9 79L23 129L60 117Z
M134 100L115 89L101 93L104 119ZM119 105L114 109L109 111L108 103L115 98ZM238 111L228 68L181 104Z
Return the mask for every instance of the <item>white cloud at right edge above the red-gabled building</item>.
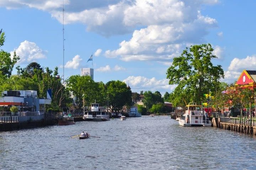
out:
M246 70L255 70L256 67L256 56L247 56L246 58L234 58L228 69L230 71L242 71L244 69Z

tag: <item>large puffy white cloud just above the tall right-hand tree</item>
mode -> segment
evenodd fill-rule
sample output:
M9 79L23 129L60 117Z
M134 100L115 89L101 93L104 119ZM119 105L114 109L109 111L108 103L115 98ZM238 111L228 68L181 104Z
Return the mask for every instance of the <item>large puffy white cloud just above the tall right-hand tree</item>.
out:
M207 34L207 28L217 26L215 19L202 16L200 11L197 14L192 22L150 25L135 30L129 41L122 41L119 49L107 50L105 55L109 58L120 57L123 61L172 59L188 42L201 41Z

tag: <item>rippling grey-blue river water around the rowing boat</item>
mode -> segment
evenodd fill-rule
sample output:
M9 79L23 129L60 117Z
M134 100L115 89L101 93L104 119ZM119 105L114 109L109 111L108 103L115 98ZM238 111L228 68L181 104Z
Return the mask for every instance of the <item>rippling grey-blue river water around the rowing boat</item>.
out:
M87 131L92 136L71 136ZM256 138L167 116L0 132L0 169L256 169Z

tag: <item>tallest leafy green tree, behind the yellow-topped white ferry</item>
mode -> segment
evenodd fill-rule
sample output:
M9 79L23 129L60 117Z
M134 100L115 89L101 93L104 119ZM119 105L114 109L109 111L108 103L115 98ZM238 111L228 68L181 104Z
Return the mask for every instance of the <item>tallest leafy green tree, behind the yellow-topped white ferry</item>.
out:
M219 86L220 78L224 78L224 71L220 65L214 66L210 44L193 45L186 48L181 56L175 57L172 66L167 69L169 84L177 84L174 90L181 104L188 102L201 103L204 94L214 92Z

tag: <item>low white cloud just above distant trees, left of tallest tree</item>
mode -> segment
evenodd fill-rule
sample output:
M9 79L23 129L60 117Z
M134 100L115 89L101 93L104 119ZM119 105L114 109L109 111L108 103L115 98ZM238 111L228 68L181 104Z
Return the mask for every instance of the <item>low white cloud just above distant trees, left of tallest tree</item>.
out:
M129 84L133 92L140 91L159 91L162 95L167 91L171 92L177 85L169 85L169 80L162 79L157 80L156 78L146 78L143 76L129 76L123 80L126 84Z

